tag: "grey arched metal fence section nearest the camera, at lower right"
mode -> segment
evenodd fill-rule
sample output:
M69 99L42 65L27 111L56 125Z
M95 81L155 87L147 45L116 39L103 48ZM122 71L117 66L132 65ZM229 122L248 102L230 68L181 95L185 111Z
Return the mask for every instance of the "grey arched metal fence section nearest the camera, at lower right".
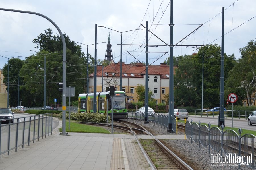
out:
M185 123L185 134L191 142L197 142L198 146L208 146L208 152L210 150L214 152L220 152L220 156L226 155L230 158L233 156L231 163L239 163L246 165L250 168L256 169L256 136L253 134L244 134L241 136L241 128L238 129L238 133L234 130L228 129L223 131L224 126L221 126L221 130L218 127L210 128L206 125L200 125L200 122L193 123L193 121L187 121ZM226 157L225 157L226 158Z

